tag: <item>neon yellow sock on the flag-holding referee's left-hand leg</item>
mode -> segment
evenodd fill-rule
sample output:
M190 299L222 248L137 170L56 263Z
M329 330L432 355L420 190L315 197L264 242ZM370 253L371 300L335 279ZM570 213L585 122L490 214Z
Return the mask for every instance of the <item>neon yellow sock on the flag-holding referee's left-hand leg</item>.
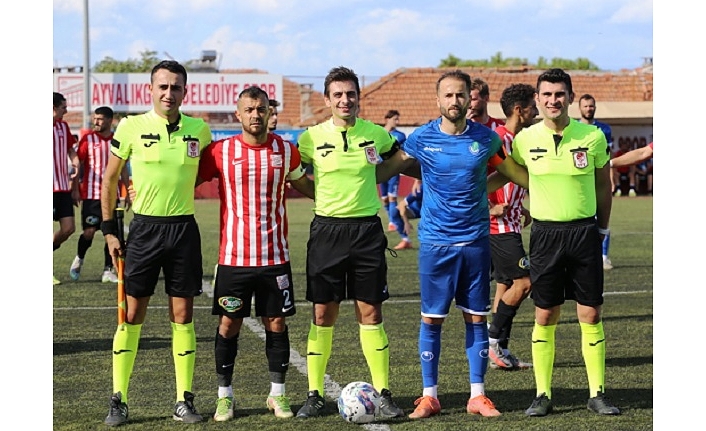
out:
M141 331L142 324L123 323L118 325L113 337L113 393L121 392L124 403L128 400L130 376L135 365Z

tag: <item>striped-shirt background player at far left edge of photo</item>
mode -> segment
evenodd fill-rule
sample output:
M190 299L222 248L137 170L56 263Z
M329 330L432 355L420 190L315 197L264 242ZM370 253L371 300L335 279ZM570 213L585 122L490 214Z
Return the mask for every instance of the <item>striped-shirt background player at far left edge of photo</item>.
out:
M54 250L69 239L76 230L74 205L78 206L79 194L76 188L78 156L74 149L76 139L69 125L64 121L66 98L54 92L54 221L59 222L59 230L54 232ZM74 173L69 176L68 161L71 160ZM54 277L53 283L61 281Z

